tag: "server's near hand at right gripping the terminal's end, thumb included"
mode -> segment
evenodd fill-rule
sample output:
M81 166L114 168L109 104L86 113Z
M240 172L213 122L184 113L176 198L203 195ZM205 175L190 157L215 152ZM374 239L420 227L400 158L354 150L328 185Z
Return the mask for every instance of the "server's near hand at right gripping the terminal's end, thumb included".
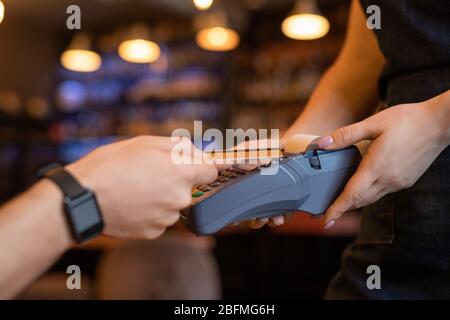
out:
M433 99L381 111L322 137L325 150L371 140L358 170L326 212L331 228L345 212L411 187L449 145L450 91Z

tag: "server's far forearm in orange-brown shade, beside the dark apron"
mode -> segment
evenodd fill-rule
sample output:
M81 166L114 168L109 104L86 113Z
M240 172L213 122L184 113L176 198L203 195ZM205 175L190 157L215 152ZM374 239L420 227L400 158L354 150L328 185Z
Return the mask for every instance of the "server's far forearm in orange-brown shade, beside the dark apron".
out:
M384 63L375 34L367 29L359 2L353 1L339 57L284 138L297 132L323 135L370 115L379 102L378 79Z

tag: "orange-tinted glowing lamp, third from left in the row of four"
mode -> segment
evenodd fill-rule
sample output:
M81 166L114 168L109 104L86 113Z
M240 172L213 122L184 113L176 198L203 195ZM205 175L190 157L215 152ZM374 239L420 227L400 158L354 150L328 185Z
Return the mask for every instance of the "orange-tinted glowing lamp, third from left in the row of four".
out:
M195 40L203 49L210 51L228 51L238 46L239 34L231 29L214 27L200 30Z

